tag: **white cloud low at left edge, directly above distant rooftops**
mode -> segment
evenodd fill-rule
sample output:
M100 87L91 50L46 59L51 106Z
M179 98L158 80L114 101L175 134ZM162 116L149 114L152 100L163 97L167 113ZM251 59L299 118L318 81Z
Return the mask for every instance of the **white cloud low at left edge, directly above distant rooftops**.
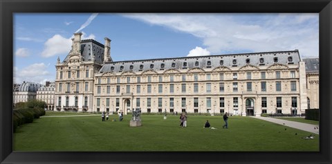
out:
M14 67L14 81L15 83L22 83L22 81L42 83L44 79L53 79L53 75L47 69L48 66L44 63L34 63L21 70Z

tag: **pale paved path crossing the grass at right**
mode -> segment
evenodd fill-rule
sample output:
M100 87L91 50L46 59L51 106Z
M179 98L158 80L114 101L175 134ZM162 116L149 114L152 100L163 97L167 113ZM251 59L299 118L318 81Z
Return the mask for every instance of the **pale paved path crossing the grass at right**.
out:
M304 130L306 132L312 132L312 133L315 133L315 134L320 134L320 130L315 128L315 127L319 127L319 125L312 125L312 124L309 124L309 123L299 123L299 122L296 122L296 121L275 119L275 118L270 118L270 117L265 117L265 116L252 116L252 118L261 119L261 120L269 121L269 122L272 122L272 123L285 125L285 126L288 126L288 127L293 127L295 129Z

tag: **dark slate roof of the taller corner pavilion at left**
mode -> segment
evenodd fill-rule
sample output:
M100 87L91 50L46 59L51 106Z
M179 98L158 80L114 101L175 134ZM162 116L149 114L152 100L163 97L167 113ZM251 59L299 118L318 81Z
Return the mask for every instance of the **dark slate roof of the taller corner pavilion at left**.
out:
M68 53L67 57L62 61L66 63L71 52ZM81 41L81 54L84 61L92 61L94 56L95 62L102 63L104 61L104 45L93 39L86 39Z

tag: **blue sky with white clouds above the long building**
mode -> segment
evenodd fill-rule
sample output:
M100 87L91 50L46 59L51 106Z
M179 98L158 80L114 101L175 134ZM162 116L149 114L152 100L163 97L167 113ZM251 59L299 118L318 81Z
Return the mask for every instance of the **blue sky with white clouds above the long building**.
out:
M113 61L299 50L319 57L318 14L14 14L14 83L55 81L71 38L104 44Z

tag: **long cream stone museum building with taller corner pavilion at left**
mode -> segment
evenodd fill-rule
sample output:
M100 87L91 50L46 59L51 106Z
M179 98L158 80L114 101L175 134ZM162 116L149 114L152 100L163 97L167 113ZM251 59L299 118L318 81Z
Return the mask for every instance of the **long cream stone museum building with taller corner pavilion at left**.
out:
M102 45L75 33L55 65L58 111L190 112L257 116L302 114L306 67L298 50L113 61Z

